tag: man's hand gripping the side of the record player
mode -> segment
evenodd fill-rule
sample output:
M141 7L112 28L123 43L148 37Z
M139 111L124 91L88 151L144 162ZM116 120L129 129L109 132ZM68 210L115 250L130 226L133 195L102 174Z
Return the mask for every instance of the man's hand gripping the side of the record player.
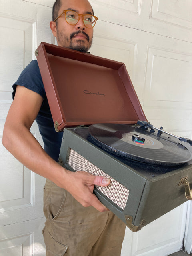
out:
M82 204L84 207L93 206L100 212L108 209L93 194L94 185L108 186L110 179L102 176L94 176L88 172L70 172L67 170L67 180L65 189ZM66 184L67 183L67 184Z

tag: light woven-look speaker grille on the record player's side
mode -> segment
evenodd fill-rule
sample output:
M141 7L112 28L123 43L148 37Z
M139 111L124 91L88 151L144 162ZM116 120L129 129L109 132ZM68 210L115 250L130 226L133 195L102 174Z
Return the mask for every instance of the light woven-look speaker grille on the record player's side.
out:
M106 197L112 200L114 204L124 210L129 196L129 190L126 187L124 187L118 181L114 180L114 178L110 177L108 174L100 170L98 167L89 162L86 158L78 154L73 149L70 149L68 151L67 162L69 166L73 168L76 172L85 171L93 175L100 175L106 178L110 178L111 183L109 186L96 186L96 188L100 190L100 192L102 192Z

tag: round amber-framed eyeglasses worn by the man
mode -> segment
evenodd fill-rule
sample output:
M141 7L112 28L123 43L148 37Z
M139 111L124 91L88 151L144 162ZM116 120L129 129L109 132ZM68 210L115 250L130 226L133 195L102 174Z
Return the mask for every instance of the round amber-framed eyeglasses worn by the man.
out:
M83 18L83 23L86 28L93 28L96 24L98 18L91 14L78 14L77 12L71 10L64 10L54 21L56 21L62 14L65 14L65 20L70 25L76 25L80 20L80 16Z

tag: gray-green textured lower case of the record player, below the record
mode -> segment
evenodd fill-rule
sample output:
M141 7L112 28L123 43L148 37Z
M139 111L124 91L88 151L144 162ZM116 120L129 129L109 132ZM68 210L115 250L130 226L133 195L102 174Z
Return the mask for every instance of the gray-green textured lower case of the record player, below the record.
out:
M94 192L134 232L186 202L180 180L192 180L192 161L154 166L115 156L92 142L88 128L64 129L59 162L72 171L111 178L110 186Z

